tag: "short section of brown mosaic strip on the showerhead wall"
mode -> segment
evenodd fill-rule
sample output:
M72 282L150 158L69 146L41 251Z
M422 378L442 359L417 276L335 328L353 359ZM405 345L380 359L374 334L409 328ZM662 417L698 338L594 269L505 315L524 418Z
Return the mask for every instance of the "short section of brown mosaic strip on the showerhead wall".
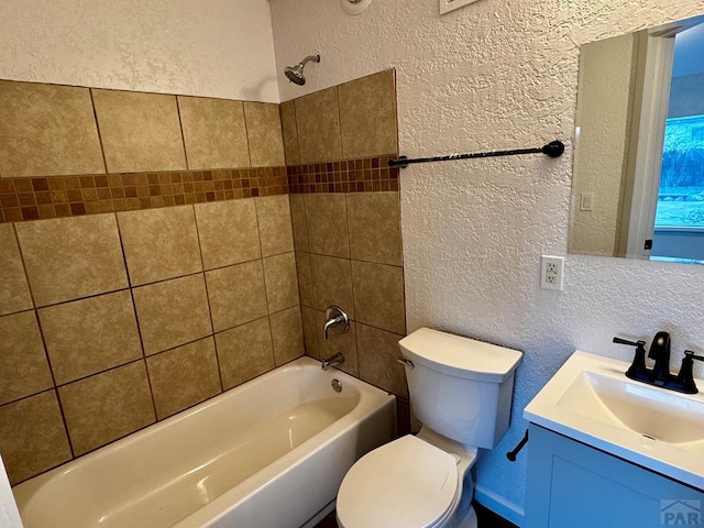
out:
M361 160L288 166L288 193L300 195L398 190L399 168L388 166L388 161L396 157L396 154L386 154Z

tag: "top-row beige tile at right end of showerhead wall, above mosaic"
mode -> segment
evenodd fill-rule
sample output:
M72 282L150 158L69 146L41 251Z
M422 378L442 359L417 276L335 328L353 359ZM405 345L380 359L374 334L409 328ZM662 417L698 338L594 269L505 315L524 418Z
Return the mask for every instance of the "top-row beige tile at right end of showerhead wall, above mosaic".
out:
M370 157L398 151L393 69L338 86L342 155Z

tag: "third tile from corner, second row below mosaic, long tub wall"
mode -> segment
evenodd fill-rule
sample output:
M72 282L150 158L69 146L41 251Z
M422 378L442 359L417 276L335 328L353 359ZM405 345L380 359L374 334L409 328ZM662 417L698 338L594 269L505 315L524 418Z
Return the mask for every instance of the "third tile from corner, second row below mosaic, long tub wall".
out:
M150 284L132 293L147 355L212 333L202 274Z

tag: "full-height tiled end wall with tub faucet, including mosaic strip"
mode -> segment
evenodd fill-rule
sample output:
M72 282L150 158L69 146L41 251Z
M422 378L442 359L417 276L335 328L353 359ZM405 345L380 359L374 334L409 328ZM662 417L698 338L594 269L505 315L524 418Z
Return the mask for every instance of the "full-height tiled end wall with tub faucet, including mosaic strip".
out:
M409 425L398 340L406 334L398 132L393 69L282 103L306 352L343 352L349 372L399 397ZM350 332L322 339L340 306Z

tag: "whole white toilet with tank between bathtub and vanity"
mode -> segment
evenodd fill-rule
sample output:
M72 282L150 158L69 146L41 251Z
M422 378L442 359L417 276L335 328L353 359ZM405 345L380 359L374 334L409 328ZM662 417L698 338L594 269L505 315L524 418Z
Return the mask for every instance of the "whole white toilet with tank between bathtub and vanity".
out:
M476 528L471 468L508 428L522 352L421 328L398 343L422 422L362 457L338 492L340 528Z

